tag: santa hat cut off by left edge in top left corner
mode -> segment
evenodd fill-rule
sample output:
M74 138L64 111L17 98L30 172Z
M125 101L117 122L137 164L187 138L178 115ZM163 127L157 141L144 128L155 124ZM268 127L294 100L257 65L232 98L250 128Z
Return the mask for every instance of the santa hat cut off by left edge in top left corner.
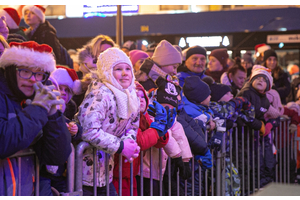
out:
M6 24L10 29L19 28L21 21L20 15L14 8L3 8L0 10L0 16L5 16Z

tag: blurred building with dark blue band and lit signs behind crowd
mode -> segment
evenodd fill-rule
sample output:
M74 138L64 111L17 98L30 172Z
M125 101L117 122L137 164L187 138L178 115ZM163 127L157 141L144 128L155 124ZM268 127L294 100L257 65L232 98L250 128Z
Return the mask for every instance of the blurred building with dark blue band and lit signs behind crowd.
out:
M116 37L116 5L43 5L46 19L67 49L77 49L99 34ZM22 5L14 7L21 13ZM300 5L124 5L123 41L150 44L166 39L182 49L193 45L208 51L227 48L242 56L266 43L280 65L299 65ZM26 27L24 21L21 26Z

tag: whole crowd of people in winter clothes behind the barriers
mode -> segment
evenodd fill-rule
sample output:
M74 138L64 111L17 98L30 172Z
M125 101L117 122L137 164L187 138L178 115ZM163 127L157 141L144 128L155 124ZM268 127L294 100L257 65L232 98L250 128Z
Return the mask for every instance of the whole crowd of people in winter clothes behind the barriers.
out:
M167 40L140 49L134 41L119 46L100 34L66 52L45 20L45 8L24 6L22 15L28 28L19 27L20 14L13 8L0 10L0 195L34 194L34 158L13 156L26 148L33 148L39 160L39 194L51 196L52 187L66 192L71 143L76 147L81 141L97 148L96 160L92 149L84 151L84 196L94 192L94 162L97 195L106 195L107 187L110 196L118 195L119 180L122 195L130 195L130 163L133 195L142 190L150 195L150 184L153 195L166 195L170 175L172 195L183 195L185 180L192 184L192 159L194 194L200 195L197 184L203 176L198 169L204 173L212 168L212 151L225 145L222 138L234 123L258 131L267 159L260 186L274 181L276 152L270 133L283 116L291 118L289 131L297 131L300 78L291 81L270 46L256 45L254 61L250 52L231 59L224 48L208 55L205 47L181 49Z

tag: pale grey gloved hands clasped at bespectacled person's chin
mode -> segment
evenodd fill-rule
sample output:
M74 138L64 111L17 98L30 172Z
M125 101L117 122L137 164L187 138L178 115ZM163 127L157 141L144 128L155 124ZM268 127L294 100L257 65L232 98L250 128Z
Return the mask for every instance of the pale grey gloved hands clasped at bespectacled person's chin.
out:
M54 85L45 86L41 82L35 83L33 85L35 96L31 104L45 108L48 113L52 106L63 104L63 99L57 99L60 93L52 91L54 87Z

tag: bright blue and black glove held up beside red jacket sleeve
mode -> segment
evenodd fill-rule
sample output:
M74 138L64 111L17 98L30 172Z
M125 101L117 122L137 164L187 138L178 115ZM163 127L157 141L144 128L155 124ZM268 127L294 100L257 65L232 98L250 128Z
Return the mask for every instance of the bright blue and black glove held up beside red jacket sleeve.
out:
M157 101L153 101L153 105L150 104L147 111L155 120L150 124L150 128L155 128L160 137L164 136L168 131L168 113L166 109Z

